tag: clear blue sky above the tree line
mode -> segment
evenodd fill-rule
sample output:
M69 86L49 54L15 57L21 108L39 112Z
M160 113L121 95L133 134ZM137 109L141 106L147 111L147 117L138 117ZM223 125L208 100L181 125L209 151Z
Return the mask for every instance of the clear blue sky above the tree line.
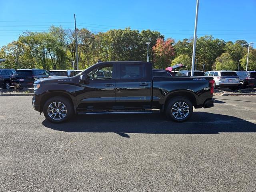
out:
M51 25L105 32L114 28L157 30L181 40L194 33L196 0L1 0L0 47L22 31L47 31ZM200 0L198 36L256 42L256 0Z

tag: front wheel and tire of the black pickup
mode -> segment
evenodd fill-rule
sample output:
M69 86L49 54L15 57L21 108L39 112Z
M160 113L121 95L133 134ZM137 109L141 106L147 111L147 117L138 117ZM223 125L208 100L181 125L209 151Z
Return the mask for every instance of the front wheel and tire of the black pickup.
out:
M74 108L67 98L56 96L44 103L43 112L48 121L61 123L68 120L74 114ZM50 114L52 114L52 117Z

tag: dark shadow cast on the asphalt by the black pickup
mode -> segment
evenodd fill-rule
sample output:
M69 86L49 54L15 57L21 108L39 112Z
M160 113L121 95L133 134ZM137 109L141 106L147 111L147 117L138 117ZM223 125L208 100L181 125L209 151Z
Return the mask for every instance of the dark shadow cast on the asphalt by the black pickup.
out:
M194 112L187 122L169 121L161 114L78 115L69 122L42 124L64 132L114 132L129 138L128 133L144 134L218 134L220 132L256 132L256 124L228 115Z

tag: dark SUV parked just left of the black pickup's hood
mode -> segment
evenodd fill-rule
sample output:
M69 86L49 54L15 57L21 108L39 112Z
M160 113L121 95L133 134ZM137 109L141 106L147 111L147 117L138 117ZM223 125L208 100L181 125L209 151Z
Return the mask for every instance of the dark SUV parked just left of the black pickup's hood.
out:
M17 69L12 75L12 86L19 84L20 87L32 87L38 79L48 78L49 74L42 69Z

